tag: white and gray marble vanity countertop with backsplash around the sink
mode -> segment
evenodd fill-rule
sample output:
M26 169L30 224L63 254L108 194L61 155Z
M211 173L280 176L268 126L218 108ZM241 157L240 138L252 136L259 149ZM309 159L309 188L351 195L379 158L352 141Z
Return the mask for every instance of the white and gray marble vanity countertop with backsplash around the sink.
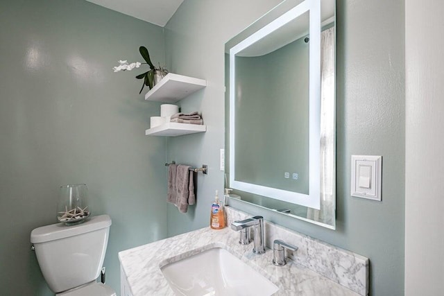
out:
M250 216L230 207L226 207L226 212L228 225L234 220L244 220ZM309 236L291 232L289 229L273 223L265 222L264 232L266 245L264 254L253 254L253 242L249 245L239 244L239 232L235 232L230 227L221 230L205 227L119 252L121 295L199 295L176 294L162 269L181 259L214 248L227 250L278 288L272 294L255 293L254 295L257 296L368 295L367 258L341 250ZM273 250L270 250L269 247L272 246L275 239L282 239L298 246L296 252L287 252L286 250L286 256L290 259L287 265L276 266L272 263ZM206 265L201 261L196 261L194 268L189 268L184 273L184 277L197 273L200 268L205 268ZM247 275L243 275L243 277L247 277ZM227 279L216 278L216 281L221 283L224 280ZM242 282L242 277L239 278L239 281ZM189 287L192 286L193 284L189 283ZM205 283L204 279L196 279L194 286L210 289L208 295L214 295L211 293L211 286ZM239 294L228 295L249 295L248 290L237 292Z

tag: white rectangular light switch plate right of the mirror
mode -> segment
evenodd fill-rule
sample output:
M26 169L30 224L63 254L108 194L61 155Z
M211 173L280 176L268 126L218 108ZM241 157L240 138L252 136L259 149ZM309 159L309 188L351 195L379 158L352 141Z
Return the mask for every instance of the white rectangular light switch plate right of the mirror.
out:
M351 195L382 200L382 156L352 155Z

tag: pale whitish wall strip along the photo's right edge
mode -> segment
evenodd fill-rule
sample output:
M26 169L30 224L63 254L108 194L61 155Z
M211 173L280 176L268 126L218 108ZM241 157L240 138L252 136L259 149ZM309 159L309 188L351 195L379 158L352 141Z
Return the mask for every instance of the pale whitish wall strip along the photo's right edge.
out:
M442 295L444 3L405 6L405 295Z

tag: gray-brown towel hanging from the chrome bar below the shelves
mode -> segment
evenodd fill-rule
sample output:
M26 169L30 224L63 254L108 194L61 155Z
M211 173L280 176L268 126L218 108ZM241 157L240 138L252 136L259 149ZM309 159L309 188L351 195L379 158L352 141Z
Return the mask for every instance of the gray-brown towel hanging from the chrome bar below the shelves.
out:
M168 171L168 202L175 204L181 213L186 213L188 204L196 202L193 171L189 166L170 164Z

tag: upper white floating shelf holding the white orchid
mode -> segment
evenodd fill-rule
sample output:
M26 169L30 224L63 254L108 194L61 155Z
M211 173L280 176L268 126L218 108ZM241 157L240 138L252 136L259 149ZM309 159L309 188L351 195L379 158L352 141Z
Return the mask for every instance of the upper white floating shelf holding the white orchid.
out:
M176 103L206 86L206 80L168 73L146 93L145 100Z

